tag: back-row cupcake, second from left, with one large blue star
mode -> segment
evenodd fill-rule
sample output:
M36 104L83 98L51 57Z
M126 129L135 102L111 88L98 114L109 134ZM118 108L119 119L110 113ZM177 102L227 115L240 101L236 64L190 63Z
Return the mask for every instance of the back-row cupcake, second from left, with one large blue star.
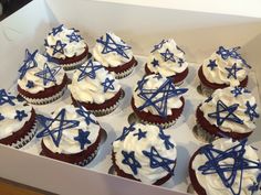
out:
M124 78L137 65L130 48L121 37L108 32L96 40L93 57L114 74L115 78Z

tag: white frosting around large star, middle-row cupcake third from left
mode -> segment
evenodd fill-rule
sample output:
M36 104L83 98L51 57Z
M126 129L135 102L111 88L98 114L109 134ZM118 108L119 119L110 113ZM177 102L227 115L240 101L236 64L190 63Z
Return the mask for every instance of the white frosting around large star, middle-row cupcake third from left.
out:
M157 89L159 89L163 85L166 84L168 78L166 77L161 77L161 76L158 76L158 75L147 75L145 76L142 80L138 82L138 87L134 90L134 94L133 94L133 98L134 98L134 104L135 104L135 107L136 108L139 108L142 106L144 106L144 104L146 102L146 99L145 98L142 98L139 96L140 94L140 88L142 90L148 90L148 91L156 91ZM142 84L142 87L139 87L139 84ZM179 89L179 87L175 86L174 84L171 84L176 89ZM161 91L158 91L157 95L155 95L153 98L152 98L152 101L157 101L158 99L165 99L163 98L164 96L167 96L167 93L161 93ZM178 95L178 96L170 96L167 98L167 101L165 104L165 107L166 107L166 110L167 110L167 115L171 115L171 109L178 109L178 108L181 108L182 107L182 101L180 100L180 97L181 95ZM157 107L160 107L160 104L161 104L161 100L157 101ZM155 109L155 106L154 105L149 105L149 106L146 106L143 111L146 111L146 112L150 112L153 115L157 115L157 116L160 116L160 113L158 112L157 109Z

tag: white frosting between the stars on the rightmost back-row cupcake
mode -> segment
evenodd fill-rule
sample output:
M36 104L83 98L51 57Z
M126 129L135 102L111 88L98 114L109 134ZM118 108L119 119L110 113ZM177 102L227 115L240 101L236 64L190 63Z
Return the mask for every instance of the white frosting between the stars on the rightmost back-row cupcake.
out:
M210 64L210 61L215 61L217 67L210 68L208 66ZM238 86L240 82L242 82L248 76L249 68L244 63L246 61L243 61L241 57L236 58L228 56L223 58L220 54L215 52L210 57L203 61L202 73L206 79L210 83ZM226 68L231 68L234 64L237 68L241 68L237 71L236 78L233 76L229 76L229 72L226 69Z

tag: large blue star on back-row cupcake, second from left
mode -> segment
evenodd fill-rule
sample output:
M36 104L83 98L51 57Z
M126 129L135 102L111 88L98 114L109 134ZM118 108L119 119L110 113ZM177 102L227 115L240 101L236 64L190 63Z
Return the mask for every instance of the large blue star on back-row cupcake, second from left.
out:
M118 55L129 59L129 56L125 53L125 51L128 51L132 47L126 45L125 43L122 43L122 44L116 43L116 41L113 40L113 37L108 33L106 33L105 40L102 36L102 37L97 39L96 42L101 43L104 46L103 51L102 51L102 54L107 54L107 53L111 53L111 52L115 52Z

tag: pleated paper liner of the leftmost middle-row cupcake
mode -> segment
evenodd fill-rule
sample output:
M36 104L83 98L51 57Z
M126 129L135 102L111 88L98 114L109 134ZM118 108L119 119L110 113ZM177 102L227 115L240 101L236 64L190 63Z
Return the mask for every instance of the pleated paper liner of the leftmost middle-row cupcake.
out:
M32 104L32 105L46 105L50 102L53 102L55 100L58 100L59 98L61 98L63 96L63 94L66 90L66 86L63 87L63 89L61 91L59 91L58 94L48 97L48 98L29 98L27 96L23 96L22 94L19 94L20 96L22 96L28 102Z

